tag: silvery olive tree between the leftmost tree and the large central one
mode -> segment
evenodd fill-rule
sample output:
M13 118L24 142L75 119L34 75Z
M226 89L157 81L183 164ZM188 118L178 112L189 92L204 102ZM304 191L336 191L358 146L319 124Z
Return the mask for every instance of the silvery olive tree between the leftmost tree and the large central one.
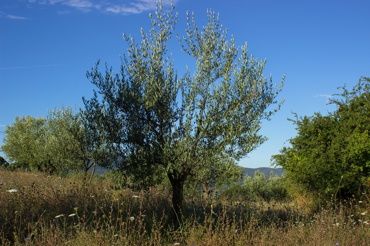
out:
M91 124L89 117L71 106L49 110L43 158L58 171L82 169L85 178L91 167L110 165L112 155L103 143L104 132L99 131L96 124Z

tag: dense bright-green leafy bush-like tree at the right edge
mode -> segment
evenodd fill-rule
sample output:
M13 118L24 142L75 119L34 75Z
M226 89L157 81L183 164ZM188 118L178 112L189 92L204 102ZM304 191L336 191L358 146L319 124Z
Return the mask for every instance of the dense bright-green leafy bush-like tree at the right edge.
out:
M283 147L272 156L272 163L287 170L293 181L306 188L335 194L357 194L370 175L370 80L361 77L349 92L334 94L330 99L337 110L326 116L289 119L296 124L297 136L292 147Z

